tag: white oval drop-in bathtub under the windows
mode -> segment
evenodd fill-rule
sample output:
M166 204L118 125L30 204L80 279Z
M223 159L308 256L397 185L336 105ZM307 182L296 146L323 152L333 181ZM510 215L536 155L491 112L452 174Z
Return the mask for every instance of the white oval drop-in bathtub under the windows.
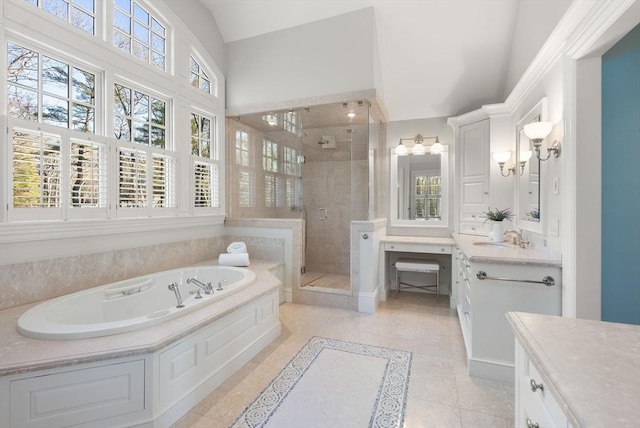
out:
M213 294L201 291L197 299L191 291L198 286L187 284L188 278L203 283L218 283L223 290ZM213 301L224 299L256 279L254 272L230 266L198 266L158 272L111 284L101 285L66 296L47 300L29 309L19 319L21 334L36 339L82 339L137 330L179 317ZM169 284L177 283L184 307L177 307Z

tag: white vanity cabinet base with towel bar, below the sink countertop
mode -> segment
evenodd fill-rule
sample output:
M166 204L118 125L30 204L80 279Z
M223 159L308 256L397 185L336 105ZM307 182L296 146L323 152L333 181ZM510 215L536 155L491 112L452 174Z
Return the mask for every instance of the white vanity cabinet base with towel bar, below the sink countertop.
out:
M560 315L561 270L550 266L477 262L460 247L456 248L455 254L457 312L469 374L512 381L514 335L505 315L510 311ZM485 272L489 278L479 279L478 272ZM555 284L546 286L522 281L540 281L545 276L553 277Z

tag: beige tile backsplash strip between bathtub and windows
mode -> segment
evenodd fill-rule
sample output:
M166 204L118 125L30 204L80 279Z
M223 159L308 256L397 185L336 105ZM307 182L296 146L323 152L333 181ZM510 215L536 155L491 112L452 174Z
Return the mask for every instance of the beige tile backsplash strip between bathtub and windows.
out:
M224 237L0 266L0 310L213 259Z

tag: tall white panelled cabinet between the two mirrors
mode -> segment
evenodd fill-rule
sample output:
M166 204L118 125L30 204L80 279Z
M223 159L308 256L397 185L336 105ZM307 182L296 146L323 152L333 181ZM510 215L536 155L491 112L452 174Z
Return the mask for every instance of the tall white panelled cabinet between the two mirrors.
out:
M486 235L489 206L489 119L461 126L459 233Z

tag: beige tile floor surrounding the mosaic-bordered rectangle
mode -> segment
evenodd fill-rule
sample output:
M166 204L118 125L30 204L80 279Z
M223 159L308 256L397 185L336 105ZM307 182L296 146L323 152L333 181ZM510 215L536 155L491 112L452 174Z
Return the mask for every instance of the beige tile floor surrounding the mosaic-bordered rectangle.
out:
M457 315L446 298L436 303L433 295L404 292L375 315L286 303L280 320L280 337L172 428L228 427L312 336L412 351L405 428L514 425L513 384L468 375ZM345 421L340 428L360 427Z

